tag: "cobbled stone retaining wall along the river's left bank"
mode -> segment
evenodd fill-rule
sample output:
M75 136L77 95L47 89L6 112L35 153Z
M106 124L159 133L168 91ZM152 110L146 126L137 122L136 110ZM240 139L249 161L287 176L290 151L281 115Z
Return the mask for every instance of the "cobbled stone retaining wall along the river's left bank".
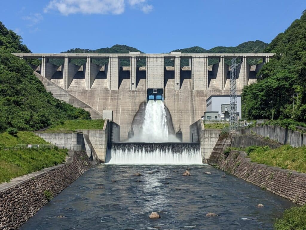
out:
M0 229L18 229L48 203L44 192L57 196L91 168L84 151L75 151L73 160L0 192Z

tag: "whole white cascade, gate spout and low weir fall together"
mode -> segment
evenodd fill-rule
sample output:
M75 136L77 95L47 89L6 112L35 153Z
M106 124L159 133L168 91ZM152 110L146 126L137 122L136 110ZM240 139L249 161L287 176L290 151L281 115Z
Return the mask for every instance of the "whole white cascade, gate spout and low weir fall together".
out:
M124 143L108 148L109 164L201 164L199 143L182 143L169 134L165 105L148 101L142 130Z

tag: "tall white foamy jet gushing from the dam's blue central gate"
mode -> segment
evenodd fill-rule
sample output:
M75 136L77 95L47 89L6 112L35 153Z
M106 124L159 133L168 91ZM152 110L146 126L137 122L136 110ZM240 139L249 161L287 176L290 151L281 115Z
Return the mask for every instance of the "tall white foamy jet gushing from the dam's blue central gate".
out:
M167 114L164 102L149 100L147 102L144 123L138 136L128 142L179 142L176 136L169 134Z

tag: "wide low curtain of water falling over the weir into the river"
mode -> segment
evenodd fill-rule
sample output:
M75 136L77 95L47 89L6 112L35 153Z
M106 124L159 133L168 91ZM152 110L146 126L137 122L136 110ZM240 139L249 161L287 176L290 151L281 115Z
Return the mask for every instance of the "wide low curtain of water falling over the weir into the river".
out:
M198 143L113 143L110 164L201 164Z

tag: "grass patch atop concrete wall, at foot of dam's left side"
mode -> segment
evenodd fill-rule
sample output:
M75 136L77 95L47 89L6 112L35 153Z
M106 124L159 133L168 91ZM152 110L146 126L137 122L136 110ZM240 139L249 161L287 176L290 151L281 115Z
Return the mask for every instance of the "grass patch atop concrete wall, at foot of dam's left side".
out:
M51 126L48 131L75 131L76 129L103 129L104 120L67 120L61 125Z

